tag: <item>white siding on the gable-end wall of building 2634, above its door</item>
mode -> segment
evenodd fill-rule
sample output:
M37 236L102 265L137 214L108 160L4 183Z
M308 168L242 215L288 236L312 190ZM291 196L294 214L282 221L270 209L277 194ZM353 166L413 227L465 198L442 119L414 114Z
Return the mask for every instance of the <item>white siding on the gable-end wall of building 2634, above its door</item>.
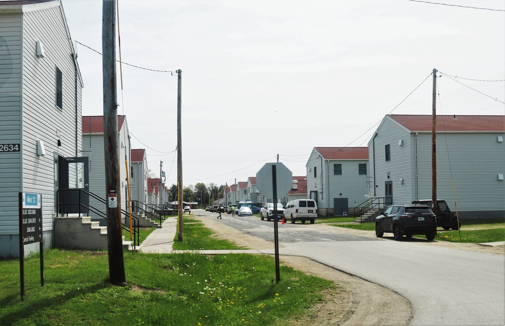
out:
M59 7L25 13L23 30L23 191L42 194L43 230L49 231L55 211L53 153L80 155L81 84L78 80L76 113L73 50ZM43 43L43 59L36 56L37 41ZM63 111L55 105L56 67L62 72ZM46 155L37 155L37 140L44 143Z

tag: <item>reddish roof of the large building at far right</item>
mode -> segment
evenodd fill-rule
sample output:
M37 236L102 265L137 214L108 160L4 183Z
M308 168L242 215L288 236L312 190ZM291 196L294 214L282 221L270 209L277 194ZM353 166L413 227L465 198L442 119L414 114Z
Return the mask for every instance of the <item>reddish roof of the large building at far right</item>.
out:
M431 131L431 115L388 115L410 131ZM437 116L437 131L503 131L504 116Z

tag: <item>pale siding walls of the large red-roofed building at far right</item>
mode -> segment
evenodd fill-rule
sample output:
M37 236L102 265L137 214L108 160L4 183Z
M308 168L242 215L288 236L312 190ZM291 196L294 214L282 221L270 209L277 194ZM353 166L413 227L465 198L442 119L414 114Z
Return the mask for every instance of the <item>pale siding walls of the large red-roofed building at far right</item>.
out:
M385 181L392 181L393 203L431 199L431 132L416 135L386 117L377 134L376 197L384 196ZM504 216L505 184L497 178L499 173L505 172L505 145L497 141L500 135L503 133L496 131L437 132L437 198L446 200L449 208L455 210L455 195L458 212L464 219L485 218L489 214ZM384 145L388 143L391 144L391 161L386 162ZM373 140L369 142L369 157L370 180L373 182Z

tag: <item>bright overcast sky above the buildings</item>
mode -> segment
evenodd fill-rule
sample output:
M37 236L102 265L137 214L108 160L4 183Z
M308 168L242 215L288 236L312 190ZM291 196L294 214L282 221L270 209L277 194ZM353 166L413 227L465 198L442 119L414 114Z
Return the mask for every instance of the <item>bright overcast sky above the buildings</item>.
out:
M437 114L504 115L505 83L476 80L505 79L505 2L434 2L495 11L408 0L119 0L122 61L174 72L123 64L121 90L117 65L132 148L146 148L157 174L162 160L166 183L176 183L177 69L184 186L247 181L277 154L303 176L313 147L366 146L391 112L431 115L433 68ZM63 7L72 39L102 52L102 1ZM82 114L103 115L102 57L76 47Z

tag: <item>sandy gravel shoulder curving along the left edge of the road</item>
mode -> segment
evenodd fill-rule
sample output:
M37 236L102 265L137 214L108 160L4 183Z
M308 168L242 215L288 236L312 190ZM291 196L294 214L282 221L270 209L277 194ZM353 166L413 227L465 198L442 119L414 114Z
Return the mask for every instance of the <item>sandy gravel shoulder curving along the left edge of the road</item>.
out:
M198 214L215 236L250 249L272 249L273 243L244 234L228 227L211 216ZM333 229L328 226L316 226ZM345 229L349 230L349 229ZM341 228L338 229L341 232ZM352 233L356 230L349 230ZM362 234L360 234L362 235ZM405 325L412 317L408 300L380 285L345 274L305 257L280 256L282 264L301 270L308 275L333 281L340 291L325 293L325 301L308 309L300 318L289 320L290 325Z

